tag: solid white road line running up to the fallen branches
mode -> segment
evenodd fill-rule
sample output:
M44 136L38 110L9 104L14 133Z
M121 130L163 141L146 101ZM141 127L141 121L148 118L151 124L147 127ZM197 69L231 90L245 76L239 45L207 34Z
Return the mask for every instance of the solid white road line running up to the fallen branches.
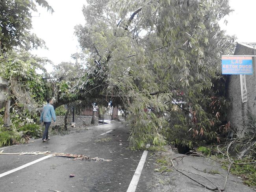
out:
M146 157L147 157L148 151L144 151L142 156L141 156L141 160L139 161L139 164L137 166L137 169L134 173L134 176L132 177L132 181L127 189L126 192L135 192L137 184L139 182L139 177L141 176L141 172L144 166L144 163L146 161Z

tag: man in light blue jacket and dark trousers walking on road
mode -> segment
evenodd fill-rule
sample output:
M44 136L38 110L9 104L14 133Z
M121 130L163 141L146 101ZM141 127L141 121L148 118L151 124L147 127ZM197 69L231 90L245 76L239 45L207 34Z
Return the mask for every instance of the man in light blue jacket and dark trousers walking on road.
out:
M52 106L52 103L53 103L52 99L47 99L47 105L44 106L43 111L41 113L41 117L40 117L40 122L44 122L45 124L43 142L50 140L50 138L48 137L48 129L50 127L52 119L54 123L56 122L56 115L55 115L55 111L54 111L54 107Z

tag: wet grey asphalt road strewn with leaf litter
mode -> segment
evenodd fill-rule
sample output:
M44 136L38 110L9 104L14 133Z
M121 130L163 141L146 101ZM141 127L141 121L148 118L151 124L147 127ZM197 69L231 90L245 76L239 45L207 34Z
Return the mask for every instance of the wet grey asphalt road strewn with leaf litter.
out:
M47 142L37 139L28 144L1 148L4 153L51 151L112 161L54 156L1 177L1 174L45 156L0 155L0 192L132 192L134 188L136 192L151 191L148 185L155 159L148 153L141 175L135 174L144 151L127 150L128 136L128 128L115 123L89 127L69 135L56 135ZM75 176L70 177L70 174ZM139 176L137 187L130 186L128 190L134 175Z

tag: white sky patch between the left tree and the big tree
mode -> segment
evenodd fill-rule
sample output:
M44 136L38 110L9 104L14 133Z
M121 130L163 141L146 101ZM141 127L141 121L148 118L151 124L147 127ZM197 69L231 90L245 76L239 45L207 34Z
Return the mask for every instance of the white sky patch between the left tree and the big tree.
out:
M74 26L85 24L82 7L86 0L47 0L47 2L54 9L54 13L51 14L46 8L38 6L38 12L32 14L32 32L46 42L48 50L39 49L32 53L40 57L48 57L54 64L73 61L71 54L79 51Z

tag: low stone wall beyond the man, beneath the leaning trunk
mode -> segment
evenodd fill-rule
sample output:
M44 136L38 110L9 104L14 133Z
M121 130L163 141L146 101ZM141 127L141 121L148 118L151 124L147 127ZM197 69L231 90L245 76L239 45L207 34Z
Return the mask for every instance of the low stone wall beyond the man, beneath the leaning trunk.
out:
M92 116L74 116L74 122L76 123L76 127L82 127L91 124ZM56 125L64 126L65 116L57 116L56 117ZM73 116L68 116L67 122L68 126L72 123ZM98 117L95 117L95 123L98 123ZM52 124L53 125L53 124Z

